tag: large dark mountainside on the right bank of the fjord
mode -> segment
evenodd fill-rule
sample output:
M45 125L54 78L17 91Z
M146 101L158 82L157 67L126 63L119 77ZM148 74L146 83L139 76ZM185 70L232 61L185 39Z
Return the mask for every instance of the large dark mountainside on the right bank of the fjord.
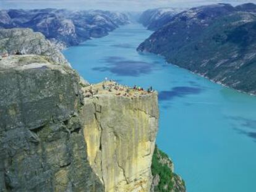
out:
M239 91L256 94L256 6L195 7L171 19L140 44L138 51Z

